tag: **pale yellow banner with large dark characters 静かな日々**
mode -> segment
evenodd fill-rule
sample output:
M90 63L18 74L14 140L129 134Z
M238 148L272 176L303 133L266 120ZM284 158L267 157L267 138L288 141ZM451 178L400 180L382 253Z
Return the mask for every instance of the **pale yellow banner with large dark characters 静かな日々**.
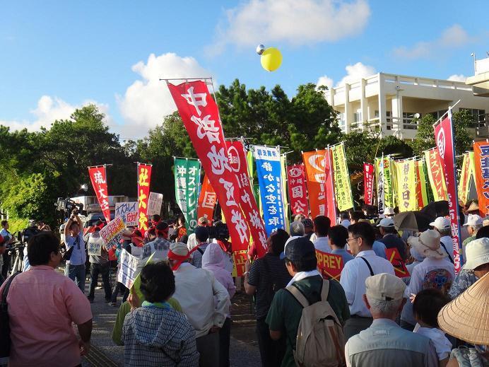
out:
M416 197L416 161L406 159L395 163L397 180L397 202L399 211L413 211L417 209Z

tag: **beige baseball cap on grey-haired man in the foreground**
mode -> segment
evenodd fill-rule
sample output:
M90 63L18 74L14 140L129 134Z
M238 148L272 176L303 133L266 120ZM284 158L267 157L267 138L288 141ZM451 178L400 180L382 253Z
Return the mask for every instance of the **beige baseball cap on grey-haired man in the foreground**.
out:
M382 273L365 279L365 289L370 299L393 301L403 298L406 284L395 275Z

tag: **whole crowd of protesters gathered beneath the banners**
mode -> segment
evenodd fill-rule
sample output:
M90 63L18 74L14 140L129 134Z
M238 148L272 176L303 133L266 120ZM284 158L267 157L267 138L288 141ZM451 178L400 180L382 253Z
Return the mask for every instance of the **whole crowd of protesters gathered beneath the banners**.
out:
M257 258L250 247L242 285L254 303L262 366L489 366L489 226L467 216L464 267L456 274L449 219L402 233L395 216L389 208L377 220L352 211L335 226L326 216L295 216L290 228L271 233L266 255ZM0 288L9 366L81 363L99 275L105 302L117 306L122 293L112 339L124 346L127 366L230 366L230 301L241 279L232 278L227 226L201 218L187 235L183 217L153 216L146 233L128 227L107 247L103 225L83 233L71 214L64 253L48 228L28 240L28 271ZM10 240L0 232L0 249ZM90 243L100 255L87 254ZM389 249L399 252L408 276L396 276ZM131 289L111 284L124 250L141 264ZM339 281L318 271L317 250L341 256ZM63 260L65 275L56 270Z

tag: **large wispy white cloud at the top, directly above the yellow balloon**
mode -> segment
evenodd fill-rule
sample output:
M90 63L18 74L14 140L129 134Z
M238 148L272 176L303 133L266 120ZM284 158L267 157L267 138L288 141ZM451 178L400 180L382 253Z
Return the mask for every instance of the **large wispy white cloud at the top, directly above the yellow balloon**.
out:
M366 0L250 0L225 15L216 28L216 42L207 50L211 54L223 52L228 44L334 42L361 33L370 7Z

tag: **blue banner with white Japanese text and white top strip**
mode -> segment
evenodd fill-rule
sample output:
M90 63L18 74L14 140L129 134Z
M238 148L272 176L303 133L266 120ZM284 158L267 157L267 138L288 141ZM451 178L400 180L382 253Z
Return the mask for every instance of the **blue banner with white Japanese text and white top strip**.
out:
M254 146L254 158L257 162L266 235L270 235L278 228L285 229L280 151L269 146Z

